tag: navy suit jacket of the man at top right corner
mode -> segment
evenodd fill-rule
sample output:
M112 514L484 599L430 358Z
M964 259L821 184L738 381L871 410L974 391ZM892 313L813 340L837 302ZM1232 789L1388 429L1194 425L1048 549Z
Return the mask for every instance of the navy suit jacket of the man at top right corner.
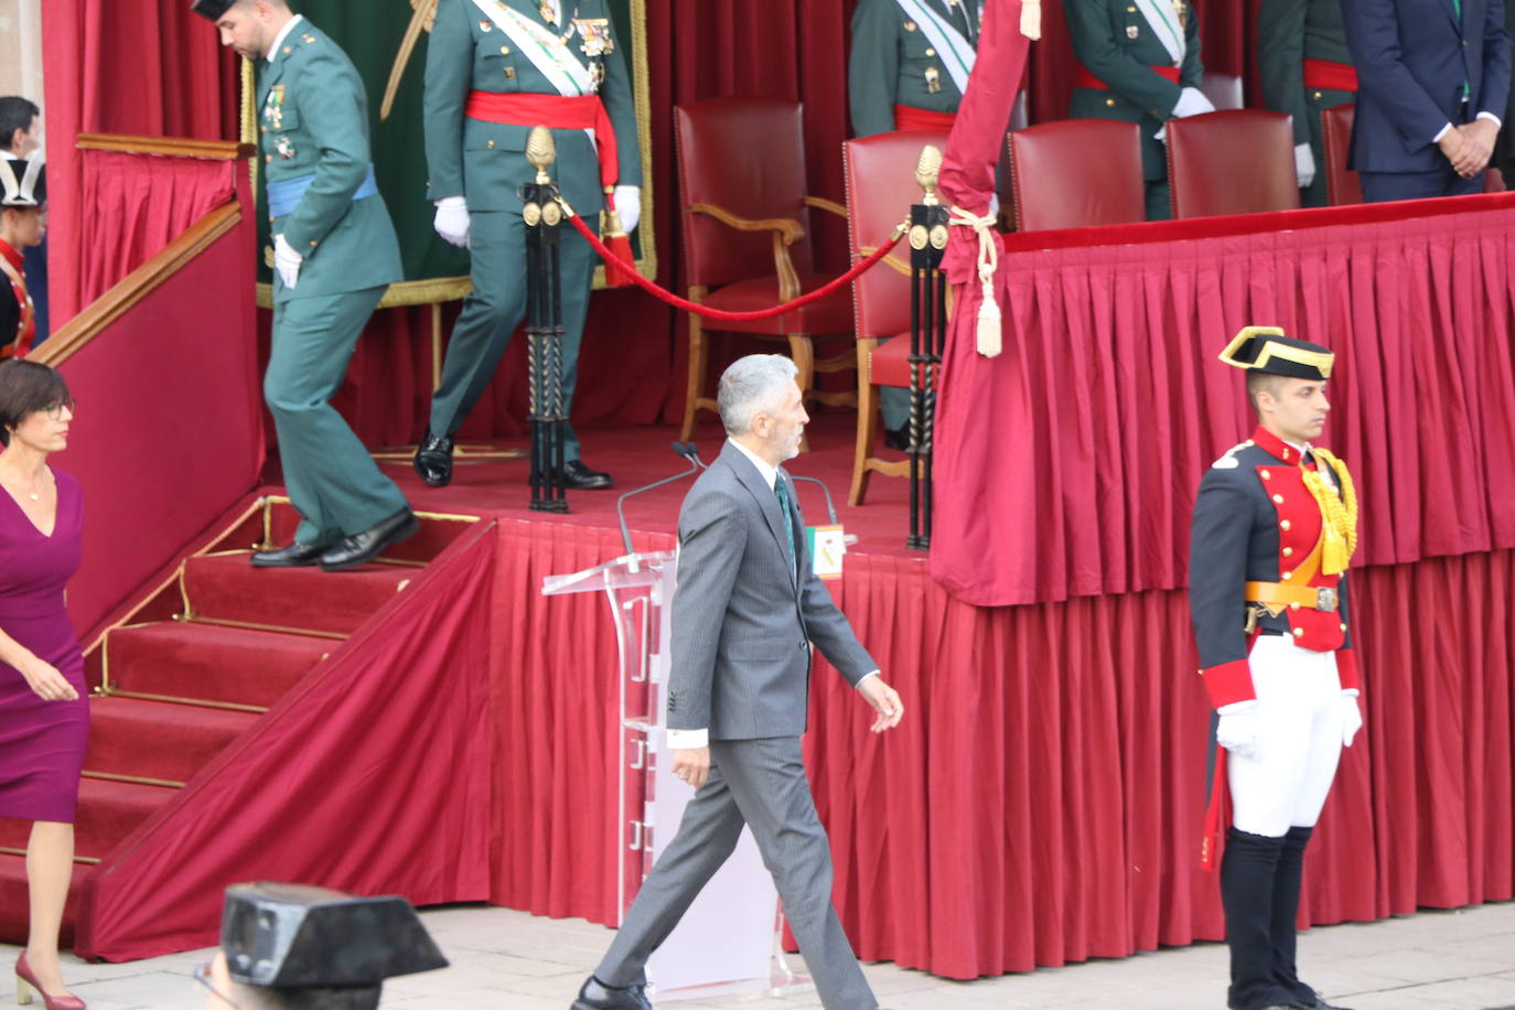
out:
M1462 0L1460 21L1453 0L1342 0L1341 12L1357 67L1351 168L1436 171L1447 167L1432 142L1442 126L1479 112L1504 118L1510 38L1501 0Z

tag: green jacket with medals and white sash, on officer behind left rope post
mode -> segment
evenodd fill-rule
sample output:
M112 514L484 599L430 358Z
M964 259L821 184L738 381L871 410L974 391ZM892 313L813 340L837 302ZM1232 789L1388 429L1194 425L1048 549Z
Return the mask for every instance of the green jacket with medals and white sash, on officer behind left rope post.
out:
M501 0L503 6L553 27L568 51L591 73L603 74L600 98L615 127L618 185L642 185L641 153L636 142L636 111L632 80L620 39L614 35L611 11L604 0L562 3L562 20L550 26L538 14L535 0ZM586 42L574 30L574 20L606 18L609 51L589 56ZM595 65L600 65L598 68ZM501 32L471 0L441 0L436 26L426 51L426 167L430 174L427 197L465 197L470 210L521 210L515 188L529 182L535 170L526 162L527 126L500 126L464 115L470 91L500 94L550 94L559 91L523 56L511 36ZM564 198L580 215L603 206L600 159L588 133L579 129L553 130L558 162L548 173ZM586 218L595 227L594 218Z

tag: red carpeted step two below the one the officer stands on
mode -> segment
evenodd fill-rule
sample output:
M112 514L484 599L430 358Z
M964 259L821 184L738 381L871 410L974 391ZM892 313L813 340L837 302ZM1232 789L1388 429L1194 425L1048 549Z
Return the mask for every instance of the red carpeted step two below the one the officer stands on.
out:
M95 698L89 719L86 772L189 781L258 716L168 701Z

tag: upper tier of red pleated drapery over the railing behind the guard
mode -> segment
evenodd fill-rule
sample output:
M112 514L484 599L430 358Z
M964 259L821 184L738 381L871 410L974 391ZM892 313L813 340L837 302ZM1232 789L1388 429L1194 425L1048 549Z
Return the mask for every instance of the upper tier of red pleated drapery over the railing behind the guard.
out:
M1006 251L994 359L973 347L965 286L932 541L951 592L994 606L1183 586L1198 477L1251 429L1215 360L1248 324L1338 353L1323 441L1357 477L1359 563L1515 547L1515 198L1270 221L1295 227L1171 223L1139 229L1171 241Z

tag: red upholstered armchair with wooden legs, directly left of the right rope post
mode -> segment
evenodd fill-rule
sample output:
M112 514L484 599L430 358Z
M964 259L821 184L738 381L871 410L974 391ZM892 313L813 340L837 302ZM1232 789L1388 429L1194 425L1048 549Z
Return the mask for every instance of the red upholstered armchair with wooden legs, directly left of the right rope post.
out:
M842 145L847 179L847 235L854 257L871 256L894 226L921 201L915 165L927 144L947 148L945 133L879 133ZM853 282L857 335L857 448L847 504L859 506L870 474L907 477L909 460L873 456L879 436L874 386L911 385L911 251L900 244ZM889 339L892 338L892 339ZM880 345L879 341L888 341Z

